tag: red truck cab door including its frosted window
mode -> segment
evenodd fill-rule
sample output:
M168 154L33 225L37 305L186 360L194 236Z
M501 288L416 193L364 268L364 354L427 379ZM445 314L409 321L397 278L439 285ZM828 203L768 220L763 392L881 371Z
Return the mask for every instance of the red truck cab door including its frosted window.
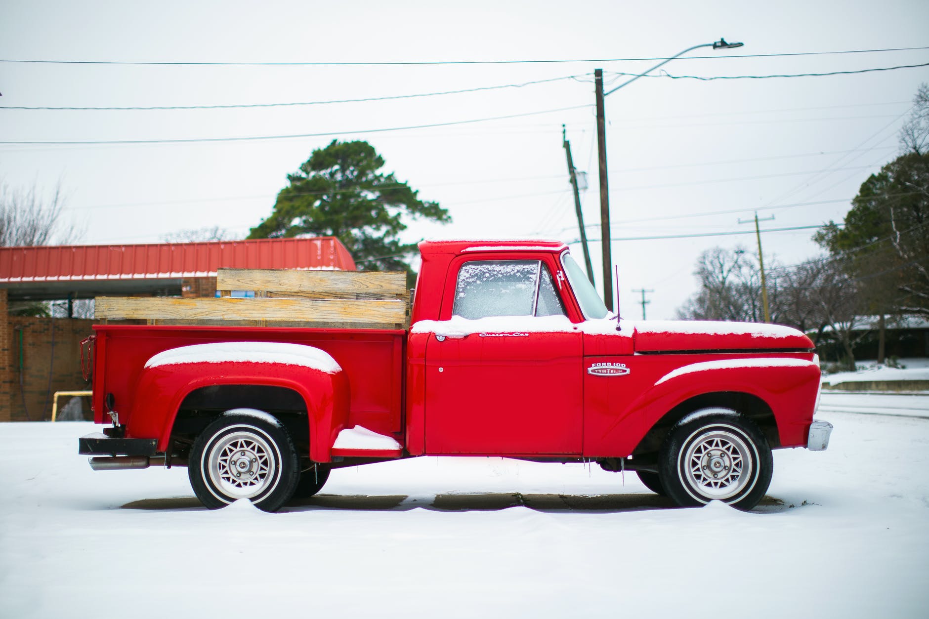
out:
M426 348L426 453L580 454L582 334L546 261L456 266Z

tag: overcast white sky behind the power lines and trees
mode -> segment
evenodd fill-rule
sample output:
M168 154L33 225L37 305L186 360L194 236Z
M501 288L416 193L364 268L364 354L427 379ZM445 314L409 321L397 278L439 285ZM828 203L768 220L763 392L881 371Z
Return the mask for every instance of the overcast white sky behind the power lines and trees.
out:
M139 66L0 62L0 106L191 106L383 98L545 84L417 99L171 111L0 108L0 141L314 138L159 144L0 144L12 187L52 188L86 244L159 242L221 226L243 237L267 217L286 174L333 138L365 139L386 171L451 211L407 239L579 237L561 125L595 264L599 199L593 72L642 72L689 46L673 75L857 71L929 62L929 49L766 58L740 55L929 46L929 3L913 2L25 2L0 5L0 59L166 62L573 60L406 66ZM595 61L594 61L595 60ZM829 77L643 78L608 96L612 236L750 232L841 219L870 173L896 156L897 130L929 67ZM608 86L609 88L609 86ZM503 120L373 131L546 112ZM815 203L815 204L811 204ZM708 215L718 211L739 211ZM765 265L815 255L815 230L763 235ZM672 318L695 290L700 252L754 236L612 243L623 315L654 289L648 318ZM580 258L580 245L572 245ZM599 269L595 267L597 274ZM598 278L599 279L599 278Z

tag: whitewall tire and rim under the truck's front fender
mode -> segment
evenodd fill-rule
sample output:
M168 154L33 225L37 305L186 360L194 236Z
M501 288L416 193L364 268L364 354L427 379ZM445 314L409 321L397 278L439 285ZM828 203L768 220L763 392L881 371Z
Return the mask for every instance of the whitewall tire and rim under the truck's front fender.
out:
M659 471L679 506L713 500L749 510L771 483L774 461L764 433L726 408L707 408L674 425L661 447Z

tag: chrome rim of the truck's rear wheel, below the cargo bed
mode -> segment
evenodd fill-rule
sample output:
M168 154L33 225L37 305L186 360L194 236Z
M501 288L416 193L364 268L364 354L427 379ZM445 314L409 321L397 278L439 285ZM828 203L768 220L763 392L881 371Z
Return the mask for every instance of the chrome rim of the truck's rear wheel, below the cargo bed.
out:
M240 429L220 437L210 448L210 481L233 501L262 494L277 483L280 455L255 430Z

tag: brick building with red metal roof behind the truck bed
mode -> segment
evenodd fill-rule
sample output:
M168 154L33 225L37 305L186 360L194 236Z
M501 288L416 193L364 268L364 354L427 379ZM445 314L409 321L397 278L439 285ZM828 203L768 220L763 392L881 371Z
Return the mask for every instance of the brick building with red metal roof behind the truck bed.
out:
M355 270L334 237L209 243L0 247L0 421L51 418L52 394L90 389L80 341L95 296L214 296L216 270ZM10 304L61 300L69 318L10 315ZM63 403L63 402L60 402Z

